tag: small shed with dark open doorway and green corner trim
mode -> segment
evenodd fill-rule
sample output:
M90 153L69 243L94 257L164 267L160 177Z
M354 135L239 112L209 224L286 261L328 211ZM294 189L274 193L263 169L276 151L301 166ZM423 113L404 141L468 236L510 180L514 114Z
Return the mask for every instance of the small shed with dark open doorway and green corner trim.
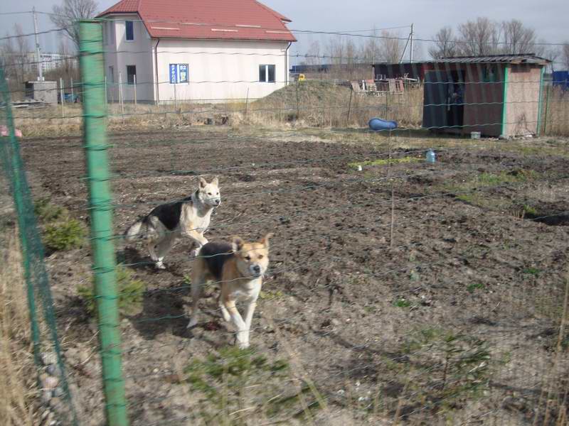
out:
M461 135L538 134L549 62L533 53L426 62L422 126Z

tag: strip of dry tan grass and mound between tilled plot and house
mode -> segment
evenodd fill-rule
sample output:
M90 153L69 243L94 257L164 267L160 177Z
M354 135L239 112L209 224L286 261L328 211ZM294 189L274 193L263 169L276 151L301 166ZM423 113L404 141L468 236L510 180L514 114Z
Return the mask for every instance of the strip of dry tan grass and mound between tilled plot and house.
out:
M283 127L367 127L374 116L420 127L422 88L403 94L356 95L349 87L323 81L290 84L257 101L216 104L110 104L109 131L172 129L201 124ZM16 126L24 136L80 135L81 104L43 109L16 109Z

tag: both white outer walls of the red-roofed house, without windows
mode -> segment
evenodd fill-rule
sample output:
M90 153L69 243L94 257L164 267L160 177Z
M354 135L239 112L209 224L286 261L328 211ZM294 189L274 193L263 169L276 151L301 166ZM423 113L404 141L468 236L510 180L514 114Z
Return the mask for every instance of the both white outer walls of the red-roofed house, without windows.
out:
M126 38L126 21L133 21L132 41ZM128 65L136 67L140 102L257 99L285 87L288 80L289 43L283 41L152 39L137 14L125 14L112 15L103 24L103 45L109 102L119 101L119 73L124 102L134 100ZM171 83L173 64L188 65L188 82ZM259 81L260 65L275 66L274 82Z

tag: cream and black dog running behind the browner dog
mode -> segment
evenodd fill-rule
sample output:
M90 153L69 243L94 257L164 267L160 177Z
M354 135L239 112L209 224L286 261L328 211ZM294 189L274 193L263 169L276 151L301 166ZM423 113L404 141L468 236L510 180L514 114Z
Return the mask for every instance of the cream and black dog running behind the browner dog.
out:
M208 242L203 233L208 229L213 209L220 204L218 178L211 182L199 178L198 190L190 197L154 208L127 229L125 239L127 242L147 241L156 268L165 269L164 256L176 239L188 236L195 241L197 248L192 251L193 256Z

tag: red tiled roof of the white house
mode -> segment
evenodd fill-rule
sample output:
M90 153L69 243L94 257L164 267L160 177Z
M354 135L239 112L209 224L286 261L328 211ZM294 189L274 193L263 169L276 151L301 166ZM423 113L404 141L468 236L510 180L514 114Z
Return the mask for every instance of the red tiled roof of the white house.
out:
M121 0L100 13L138 13L153 38L296 41L289 18L256 0Z

